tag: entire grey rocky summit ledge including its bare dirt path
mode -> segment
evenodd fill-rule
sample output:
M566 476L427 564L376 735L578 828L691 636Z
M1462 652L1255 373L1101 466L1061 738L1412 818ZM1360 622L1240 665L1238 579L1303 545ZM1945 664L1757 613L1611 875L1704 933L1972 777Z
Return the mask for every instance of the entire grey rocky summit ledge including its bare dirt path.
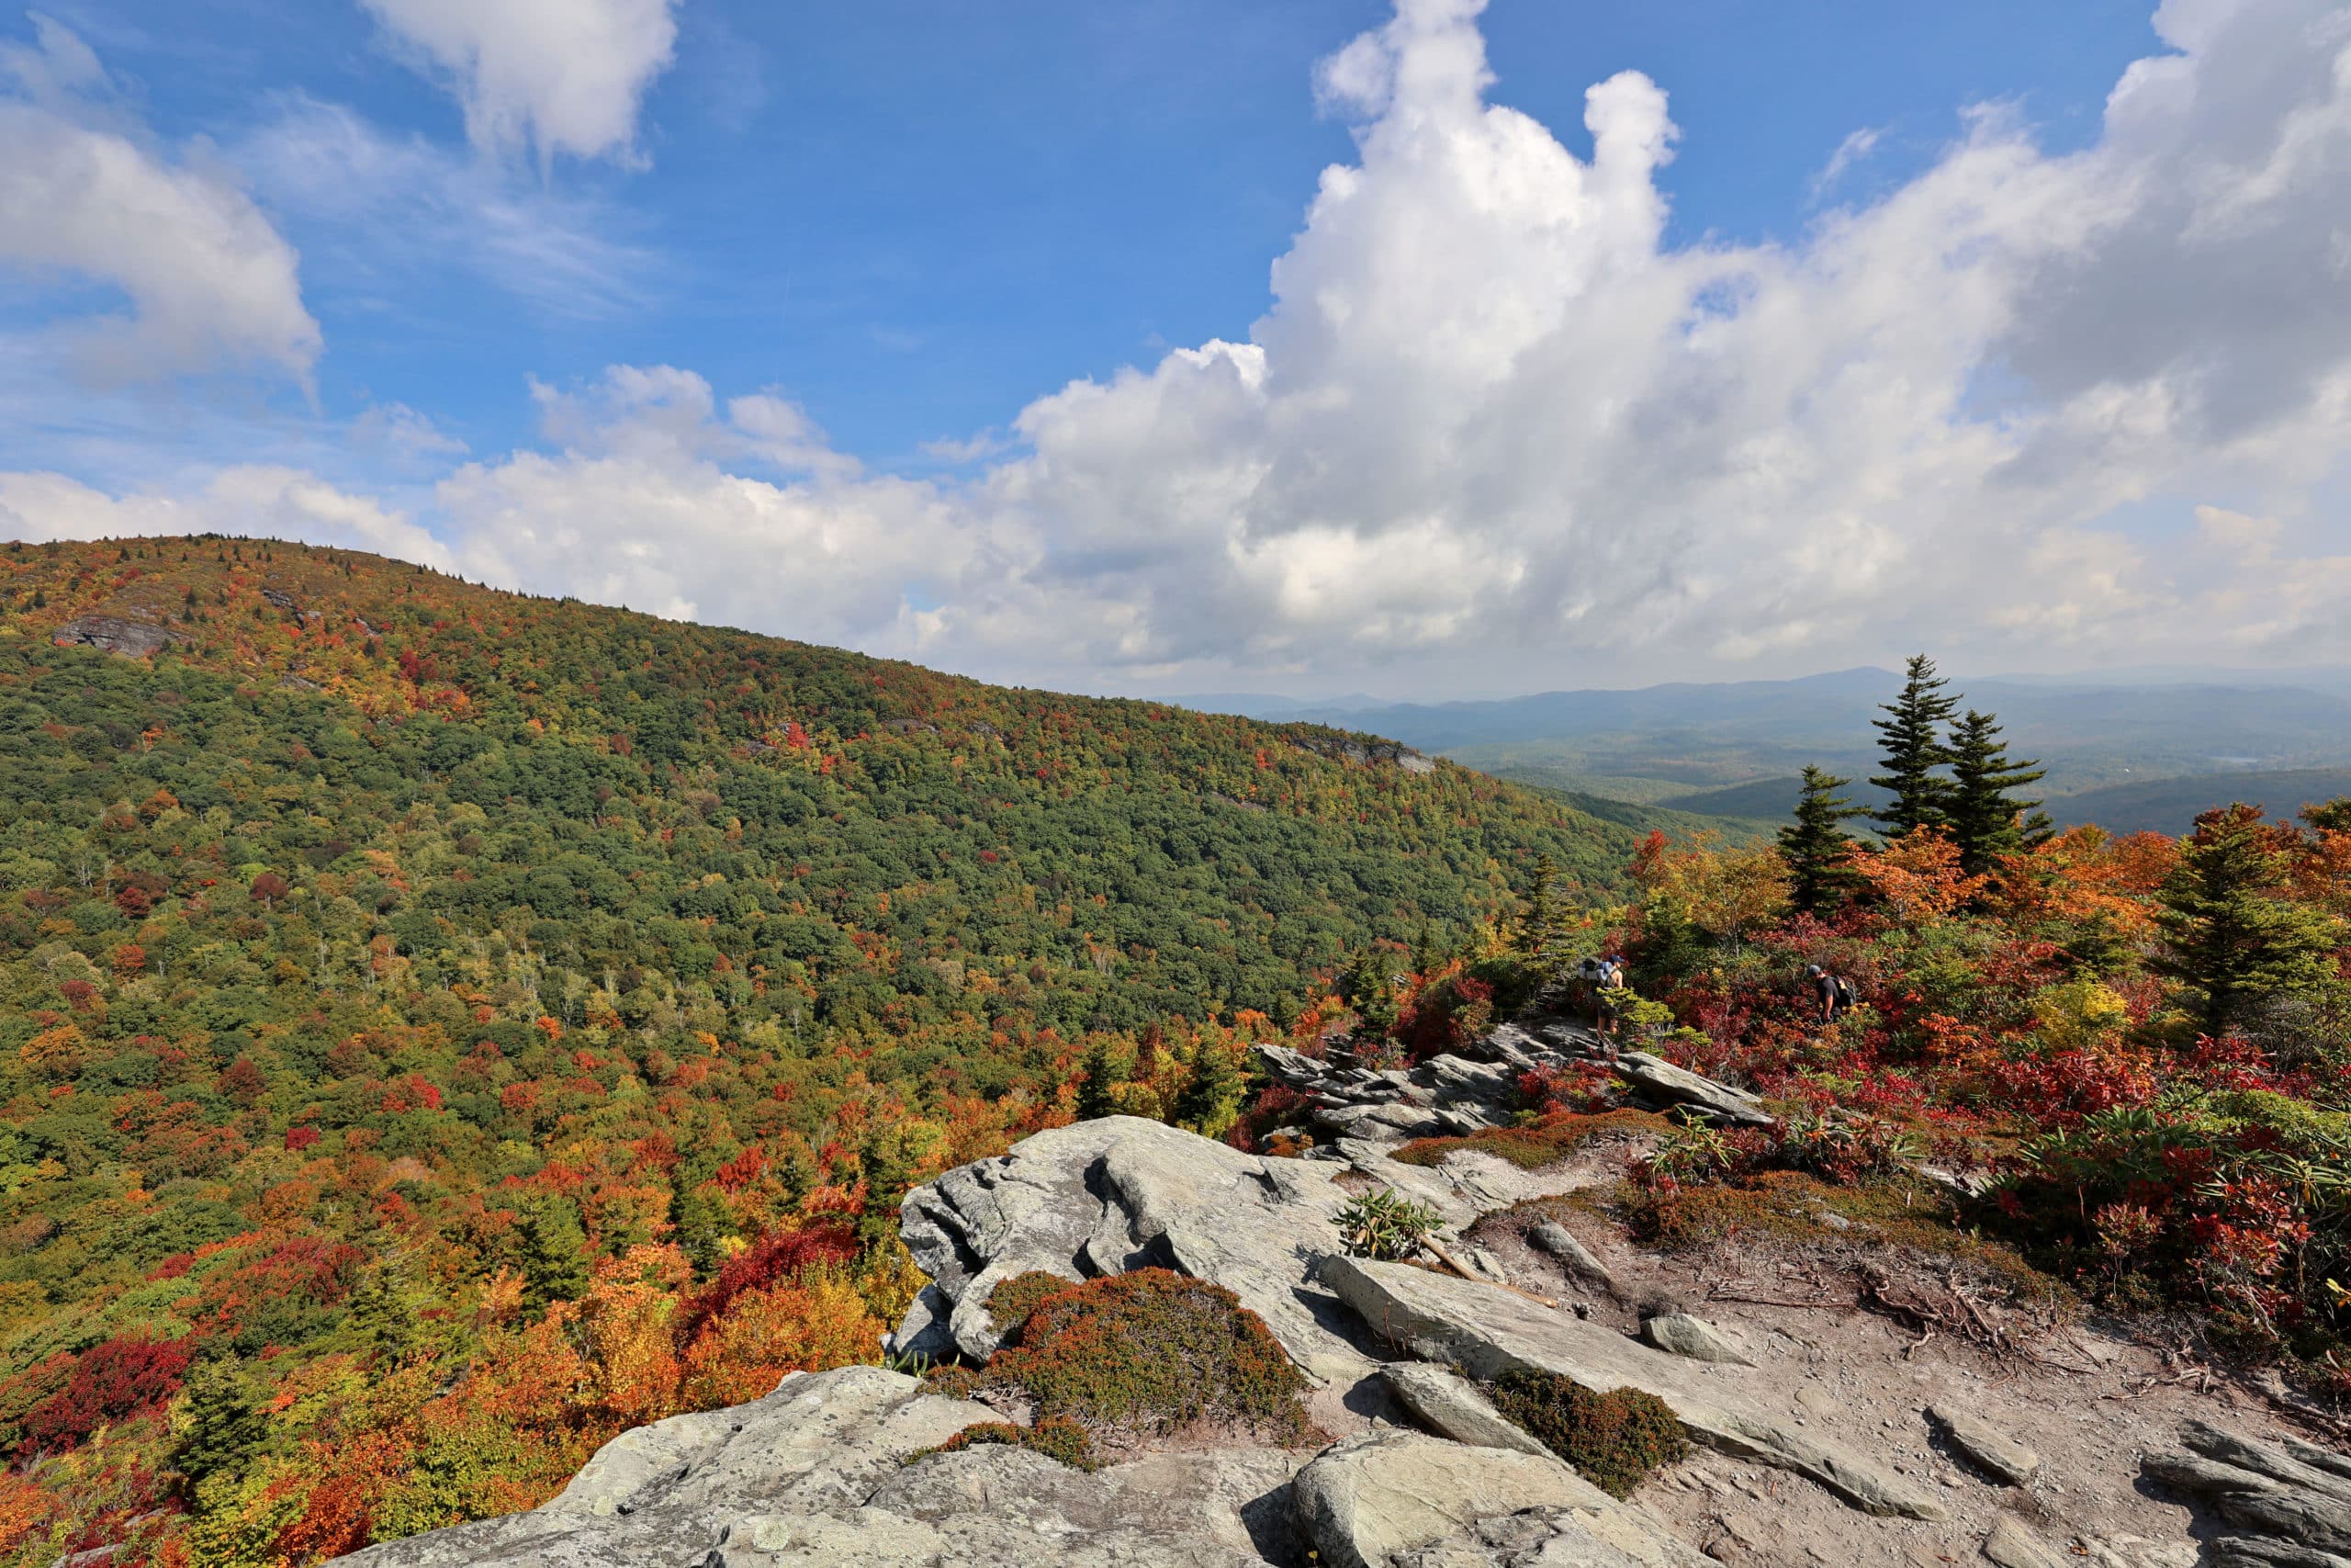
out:
M2351 1458L2121 1326L1987 1316L1963 1269L1836 1215L1817 1244L1639 1248L1589 1201L1634 1138L1535 1168L1476 1147L1396 1159L1509 1126L1521 1072L1594 1060L1566 1020L1408 1072L1260 1056L1326 1140L1305 1159L1110 1117L915 1190L900 1225L933 1284L893 1352L985 1361L990 1293L1025 1272L1178 1269L1265 1319L1328 1446L1180 1441L1091 1474L1013 1446L907 1465L1004 1413L849 1368L628 1432L529 1514L346 1561L2351 1568ZM1648 1107L1770 1121L1653 1056L1613 1072ZM1444 1215L1441 1262L1340 1253L1333 1220L1371 1187ZM1488 1401L1481 1385L1526 1368L1662 1399L1690 1458L1610 1497Z

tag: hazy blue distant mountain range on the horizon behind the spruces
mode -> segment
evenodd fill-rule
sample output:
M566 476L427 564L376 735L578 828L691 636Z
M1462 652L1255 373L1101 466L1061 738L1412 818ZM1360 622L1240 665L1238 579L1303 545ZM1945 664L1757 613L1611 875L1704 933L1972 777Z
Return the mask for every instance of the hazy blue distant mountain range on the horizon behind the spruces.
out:
M1220 712L1361 729L1444 752L1498 778L1641 806L1733 818L1787 816L1817 762L1881 795L1869 722L1902 684L1893 670L1782 682L1674 682L1632 691L1545 691L1465 703L1187 698ZM1996 712L2015 755L2048 766L2038 792L2062 825L2184 832L2196 811L2255 799L2276 816L2351 792L2351 672L2121 670L1958 679Z

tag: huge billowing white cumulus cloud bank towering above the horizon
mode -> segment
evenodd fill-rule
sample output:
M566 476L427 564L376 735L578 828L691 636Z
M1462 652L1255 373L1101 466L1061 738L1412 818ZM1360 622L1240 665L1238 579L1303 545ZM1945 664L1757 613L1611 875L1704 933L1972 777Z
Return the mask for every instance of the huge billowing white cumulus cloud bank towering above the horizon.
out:
M938 482L623 367L536 388L545 449L433 527L496 581L1079 686L2344 658L2351 7L2156 28L2083 150L1975 108L1799 240L1672 244L1660 85L1594 85L1578 155L1491 101L1476 0L1399 0L1317 73L1357 158L1246 336Z

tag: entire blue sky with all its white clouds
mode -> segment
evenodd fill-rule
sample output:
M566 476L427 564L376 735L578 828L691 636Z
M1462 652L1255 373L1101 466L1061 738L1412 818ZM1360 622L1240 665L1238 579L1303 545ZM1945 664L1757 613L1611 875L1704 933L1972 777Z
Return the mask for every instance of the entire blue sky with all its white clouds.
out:
M242 517L1136 691L2339 651L2339 5L56 0L0 40L0 531ZM2198 609L2205 557L2304 569Z

